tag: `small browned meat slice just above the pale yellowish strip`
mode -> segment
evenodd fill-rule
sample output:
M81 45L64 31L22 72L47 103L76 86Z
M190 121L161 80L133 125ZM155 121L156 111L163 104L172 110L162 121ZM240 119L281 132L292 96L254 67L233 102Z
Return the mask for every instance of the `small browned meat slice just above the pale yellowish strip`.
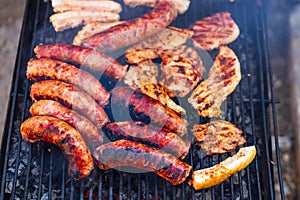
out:
M242 136L242 130L223 120L196 124L192 132L207 155L231 152L246 142Z

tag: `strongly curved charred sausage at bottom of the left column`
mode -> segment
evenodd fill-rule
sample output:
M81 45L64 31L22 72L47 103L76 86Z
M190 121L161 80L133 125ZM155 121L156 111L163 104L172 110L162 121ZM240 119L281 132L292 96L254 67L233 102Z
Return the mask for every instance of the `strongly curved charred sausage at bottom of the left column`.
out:
M22 137L29 141L56 144L69 162L68 172L74 179L88 176L94 168L93 158L79 132L64 121L48 116L34 116L23 122Z

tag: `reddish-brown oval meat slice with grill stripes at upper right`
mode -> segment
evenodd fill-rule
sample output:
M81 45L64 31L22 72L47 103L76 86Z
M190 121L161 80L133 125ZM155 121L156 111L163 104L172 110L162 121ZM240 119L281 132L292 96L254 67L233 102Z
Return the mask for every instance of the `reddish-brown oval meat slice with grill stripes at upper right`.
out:
M229 44L240 34L239 27L228 12L216 13L196 21L190 29L194 31L194 46L205 50Z

